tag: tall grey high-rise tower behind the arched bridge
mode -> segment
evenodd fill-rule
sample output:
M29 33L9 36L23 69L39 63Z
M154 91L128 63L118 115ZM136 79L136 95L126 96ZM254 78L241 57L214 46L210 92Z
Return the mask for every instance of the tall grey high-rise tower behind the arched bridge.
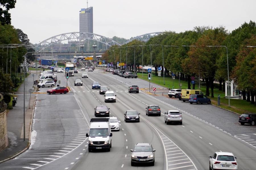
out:
M83 8L79 11L79 32L93 33L93 11L92 7Z

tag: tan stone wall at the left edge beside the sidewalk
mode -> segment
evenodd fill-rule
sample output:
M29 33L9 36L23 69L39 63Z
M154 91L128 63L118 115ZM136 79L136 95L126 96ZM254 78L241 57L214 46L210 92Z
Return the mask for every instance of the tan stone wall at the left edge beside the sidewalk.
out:
M8 146L6 109L0 111L0 152Z

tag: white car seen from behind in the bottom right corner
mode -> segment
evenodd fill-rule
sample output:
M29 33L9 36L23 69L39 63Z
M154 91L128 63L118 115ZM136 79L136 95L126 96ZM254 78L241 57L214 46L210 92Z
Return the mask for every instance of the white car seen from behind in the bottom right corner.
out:
M235 169L237 170L236 157L231 152L215 152L210 158L209 169Z

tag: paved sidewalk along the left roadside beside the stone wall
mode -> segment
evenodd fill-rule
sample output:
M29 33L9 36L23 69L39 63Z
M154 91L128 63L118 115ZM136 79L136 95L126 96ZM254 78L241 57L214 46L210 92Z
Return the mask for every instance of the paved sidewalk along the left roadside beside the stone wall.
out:
M14 158L18 154L24 152L30 145L30 127L32 123L32 116L34 113L34 103L36 94L31 94L30 109L28 108L30 93L29 89L33 89L33 73L31 71L28 75L28 85L25 86L25 141L23 140L23 104L24 104L24 83L22 83L15 95L17 96L17 103L12 110L9 110L7 119L7 132L9 145L5 150L0 152L0 163L10 158ZM39 72L38 72L39 73ZM40 73L39 73L40 74ZM34 74L34 78L38 75Z

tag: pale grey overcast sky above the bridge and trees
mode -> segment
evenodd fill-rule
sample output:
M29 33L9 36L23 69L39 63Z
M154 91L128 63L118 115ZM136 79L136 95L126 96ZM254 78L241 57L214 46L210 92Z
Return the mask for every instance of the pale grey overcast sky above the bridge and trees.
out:
M256 0L88 0L93 32L129 39L150 32L192 30L223 25L232 31L256 21ZM31 43L79 32L79 11L86 0L17 0L11 22Z

